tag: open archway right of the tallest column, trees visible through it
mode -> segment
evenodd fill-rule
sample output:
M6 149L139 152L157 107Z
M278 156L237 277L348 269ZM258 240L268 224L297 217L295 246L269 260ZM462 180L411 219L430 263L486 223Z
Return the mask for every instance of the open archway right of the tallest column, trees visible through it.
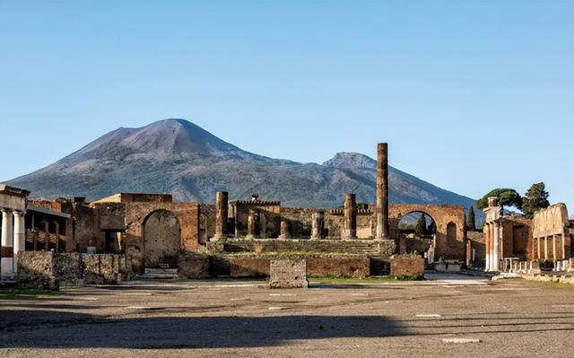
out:
M399 250L402 253L416 252L424 256L429 248L436 247L437 223L430 214L422 211L404 214L397 227L400 232Z

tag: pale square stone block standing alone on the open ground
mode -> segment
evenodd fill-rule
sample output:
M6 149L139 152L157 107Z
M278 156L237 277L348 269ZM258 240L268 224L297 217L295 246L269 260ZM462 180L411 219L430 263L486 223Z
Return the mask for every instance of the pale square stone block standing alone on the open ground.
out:
M271 288L307 288L307 263L305 260L271 260Z

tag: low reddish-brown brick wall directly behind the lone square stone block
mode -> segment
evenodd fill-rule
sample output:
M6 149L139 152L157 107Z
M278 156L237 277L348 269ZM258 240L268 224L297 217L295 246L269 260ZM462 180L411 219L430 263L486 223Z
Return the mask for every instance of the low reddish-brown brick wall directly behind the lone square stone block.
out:
M231 277L270 275L271 260L279 258L230 258ZM300 259L300 258L296 258ZM352 276L370 275L369 258L305 258L307 275Z

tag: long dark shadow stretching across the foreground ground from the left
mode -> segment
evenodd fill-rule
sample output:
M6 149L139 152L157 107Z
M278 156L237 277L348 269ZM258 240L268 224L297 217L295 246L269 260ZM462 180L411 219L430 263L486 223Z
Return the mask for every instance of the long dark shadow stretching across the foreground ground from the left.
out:
M50 324L42 316L57 314ZM32 328L4 327L1 348L220 348L283 345L297 339L404 336L379 316L152 317L97 319L87 314L19 311ZM38 316L38 317L37 317ZM2 320L0 320L0 327Z

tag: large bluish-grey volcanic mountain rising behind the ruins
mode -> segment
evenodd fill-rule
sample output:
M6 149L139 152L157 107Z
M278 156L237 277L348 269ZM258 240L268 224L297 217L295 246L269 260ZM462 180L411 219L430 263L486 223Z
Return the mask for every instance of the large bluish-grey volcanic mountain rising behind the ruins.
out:
M232 199L281 200L287 206L342 205L345 193L375 202L376 162L360 153L337 153L324 162L300 163L248 153L184 119L141 128L120 127L79 151L8 184L32 197L117 192L172 193L177 201L211 203L216 190ZM459 204L474 199L389 167L391 203Z

